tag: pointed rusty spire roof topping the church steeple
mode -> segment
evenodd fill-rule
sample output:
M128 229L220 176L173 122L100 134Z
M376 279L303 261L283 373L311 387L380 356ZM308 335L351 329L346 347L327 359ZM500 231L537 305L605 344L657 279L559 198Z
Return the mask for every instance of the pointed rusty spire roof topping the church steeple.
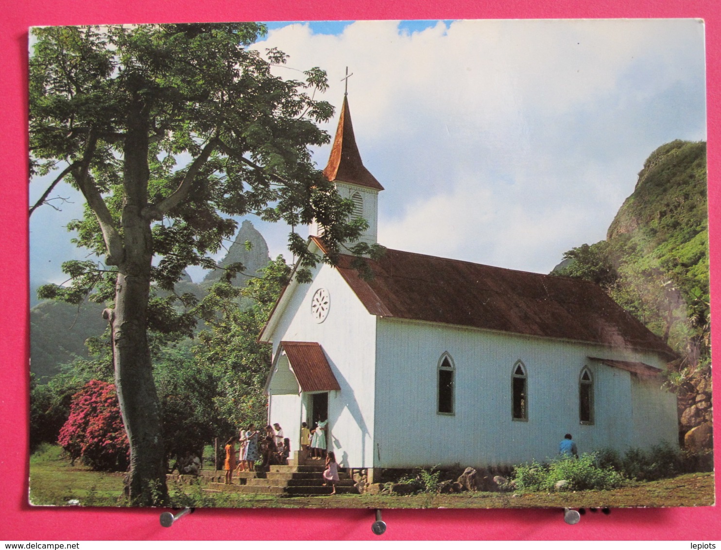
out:
M333 148L330 151L328 165L323 170L323 175L331 182L338 180L379 191L383 190L383 186L363 166L361 153L355 144L353 123L350 120L350 109L348 108L348 96L343 97L343 107L340 110L340 119L338 120L338 128L335 131Z

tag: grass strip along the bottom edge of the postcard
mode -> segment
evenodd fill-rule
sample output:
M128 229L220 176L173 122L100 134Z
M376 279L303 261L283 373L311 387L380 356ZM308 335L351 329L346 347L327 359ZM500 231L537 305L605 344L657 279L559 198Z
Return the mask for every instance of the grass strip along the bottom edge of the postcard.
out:
M465 492L409 496L339 494L332 497L207 492L198 484L169 484L172 505L195 507L314 507L314 508L522 508L710 506L714 504L714 474L684 474L609 491L516 494ZM61 458L59 447L46 446L30 458L30 503L82 506L123 506L123 474L90 471Z

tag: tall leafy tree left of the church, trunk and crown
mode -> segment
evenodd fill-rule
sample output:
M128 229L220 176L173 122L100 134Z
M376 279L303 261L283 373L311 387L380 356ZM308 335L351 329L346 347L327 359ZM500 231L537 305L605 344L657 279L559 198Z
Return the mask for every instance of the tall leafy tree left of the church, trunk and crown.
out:
M317 123L332 116L314 99L324 71L304 80L273 76L286 55L249 48L255 23L44 27L30 59L32 175L60 170L87 202L71 223L74 242L104 262L66 262L72 283L45 286L43 298L108 301L115 385L131 445L126 494L136 505L167 498L159 400L147 331L193 324L151 284L173 290L187 265L210 267L208 254L231 236L231 216L256 213L289 225L316 218L334 262L339 243L364 222L348 222L341 200L311 162L309 146L328 141ZM299 278L319 258L291 232ZM357 244L353 251L368 252ZM228 269L229 275L242 270ZM189 297L181 297L188 300Z

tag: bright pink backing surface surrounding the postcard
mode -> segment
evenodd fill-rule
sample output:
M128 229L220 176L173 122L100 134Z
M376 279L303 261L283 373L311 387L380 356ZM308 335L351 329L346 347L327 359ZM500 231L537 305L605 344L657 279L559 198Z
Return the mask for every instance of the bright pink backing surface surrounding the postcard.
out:
M162 510L32 508L27 504L27 27L87 23L306 19L518 19L700 17L706 21L709 226L712 309L721 311L717 182L721 135L721 2L716 0L1 0L2 146L0 223L0 539L165 540L376 538L371 510L197 510L172 528ZM630 6L628 4L631 4ZM720 324L713 340L721 342ZM719 380L715 381L716 389ZM721 414L715 418L718 422ZM719 469L721 453L717 453ZM720 485L717 480L717 487ZM717 489L718 495L718 489ZM389 510L385 539L660 539L721 538L717 507L617 509L566 525L560 510ZM323 528L319 529L318 526ZM281 528L279 528L282 526Z

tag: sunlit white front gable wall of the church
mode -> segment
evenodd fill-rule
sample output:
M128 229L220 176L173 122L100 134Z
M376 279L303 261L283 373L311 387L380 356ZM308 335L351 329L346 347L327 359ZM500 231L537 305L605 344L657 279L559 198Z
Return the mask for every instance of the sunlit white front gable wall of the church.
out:
M311 299L318 288L325 288L330 295L329 313L322 323L311 316ZM373 466L376 318L368 314L337 270L319 265L313 282L299 285L293 292L282 319L273 334L273 357L282 340L319 342L340 385L340 391L328 395L329 450L343 467ZM308 398L303 399L302 420L309 416ZM271 411L270 420L275 422L272 416ZM298 448L298 440L291 441L291 448Z

